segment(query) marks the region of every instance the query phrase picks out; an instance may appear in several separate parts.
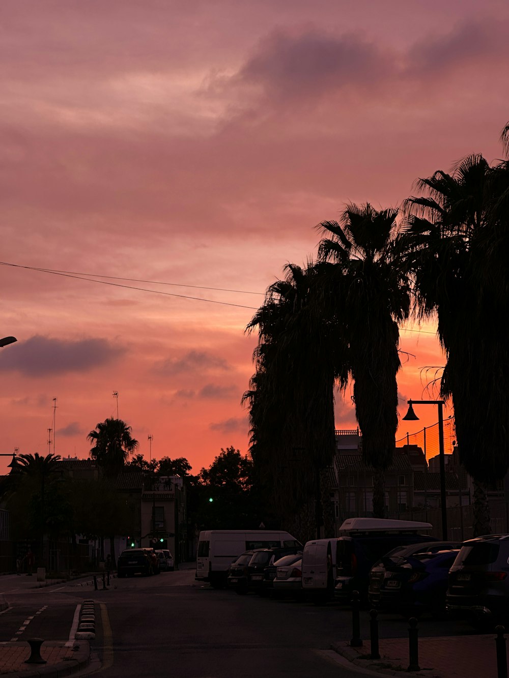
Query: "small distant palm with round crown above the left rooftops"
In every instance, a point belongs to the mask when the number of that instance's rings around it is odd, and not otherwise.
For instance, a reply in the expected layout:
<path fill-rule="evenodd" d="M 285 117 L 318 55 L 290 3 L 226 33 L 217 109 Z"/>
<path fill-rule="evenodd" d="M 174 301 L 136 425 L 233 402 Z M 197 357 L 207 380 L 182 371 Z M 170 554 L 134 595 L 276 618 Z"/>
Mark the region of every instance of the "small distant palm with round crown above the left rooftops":
<path fill-rule="evenodd" d="M 121 419 L 106 419 L 90 431 L 87 439 L 94 442 L 90 457 L 102 466 L 109 477 L 124 468 L 130 454 L 138 449 L 138 441 L 131 437 L 131 426 Z"/>

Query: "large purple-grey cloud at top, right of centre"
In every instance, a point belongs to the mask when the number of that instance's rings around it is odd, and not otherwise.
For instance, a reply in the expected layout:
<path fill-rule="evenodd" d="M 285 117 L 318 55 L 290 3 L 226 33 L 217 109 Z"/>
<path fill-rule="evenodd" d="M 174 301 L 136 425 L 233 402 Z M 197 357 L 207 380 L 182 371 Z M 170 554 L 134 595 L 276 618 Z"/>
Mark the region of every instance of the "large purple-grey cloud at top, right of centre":
<path fill-rule="evenodd" d="M 259 85 L 271 101 L 295 102 L 330 96 L 345 86 L 371 86 L 393 67 L 385 52 L 359 35 L 278 28 L 259 43 L 231 83 Z"/>

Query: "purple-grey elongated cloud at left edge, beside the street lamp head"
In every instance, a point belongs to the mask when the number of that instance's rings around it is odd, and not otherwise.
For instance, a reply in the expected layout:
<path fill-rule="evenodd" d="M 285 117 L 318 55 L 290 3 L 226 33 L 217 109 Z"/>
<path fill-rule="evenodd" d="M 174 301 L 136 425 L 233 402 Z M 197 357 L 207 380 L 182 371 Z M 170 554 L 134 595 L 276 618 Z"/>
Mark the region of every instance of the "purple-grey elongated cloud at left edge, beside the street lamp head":
<path fill-rule="evenodd" d="M 88 372 L 113 362 L 125 348 L 105 339 L 64 340 L 33 336 L 1 355 L 0 371 L 40 377 L 67 372 Z"/>

